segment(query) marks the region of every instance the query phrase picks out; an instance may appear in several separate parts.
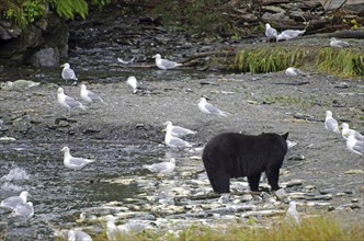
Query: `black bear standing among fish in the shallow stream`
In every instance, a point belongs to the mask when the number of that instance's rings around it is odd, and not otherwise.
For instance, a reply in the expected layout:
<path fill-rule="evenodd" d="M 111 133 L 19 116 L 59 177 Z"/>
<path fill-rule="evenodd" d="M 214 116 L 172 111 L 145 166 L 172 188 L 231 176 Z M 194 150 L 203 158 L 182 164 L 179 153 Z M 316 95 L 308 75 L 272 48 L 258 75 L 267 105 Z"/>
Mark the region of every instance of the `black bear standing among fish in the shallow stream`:
<path fill-rule="evenodd" d="M 278 190 L 280 169 L 288 150 L 287 137 L 288 133 L 215 136 L 202 156 L 214 192 L 229 193 L 230 179 L 240 176 L 248 176 L 250 190 L 257 192 L 264 171 L 272 190 Z"/>

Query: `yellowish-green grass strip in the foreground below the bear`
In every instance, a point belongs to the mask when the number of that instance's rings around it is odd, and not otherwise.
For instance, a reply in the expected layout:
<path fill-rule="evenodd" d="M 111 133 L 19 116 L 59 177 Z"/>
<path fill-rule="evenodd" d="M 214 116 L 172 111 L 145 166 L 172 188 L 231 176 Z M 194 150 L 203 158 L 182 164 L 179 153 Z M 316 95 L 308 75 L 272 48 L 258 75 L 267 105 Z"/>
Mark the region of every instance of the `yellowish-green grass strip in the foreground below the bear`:
<path fill-rule="evenodd" d="M 193 225 L 179 236 L 166 232 L 132 234 L 120 240 L 166 240 L 166 241 L 221 241 L 221 240 L 266 240 L 266 241 L 333 241 L 333 240 L 363 240 L 364 227 L 356 223 L 348 227 L 332 217 L 310 217 L 302 219 L 300 226 L 292 226 L 285 221 L 275 221 L 268 228 L 252 227 L 237 223 L 226 227 L 206 227 Z M 94 240 L 106 241 L 105 233 L 94 237 Z"/>

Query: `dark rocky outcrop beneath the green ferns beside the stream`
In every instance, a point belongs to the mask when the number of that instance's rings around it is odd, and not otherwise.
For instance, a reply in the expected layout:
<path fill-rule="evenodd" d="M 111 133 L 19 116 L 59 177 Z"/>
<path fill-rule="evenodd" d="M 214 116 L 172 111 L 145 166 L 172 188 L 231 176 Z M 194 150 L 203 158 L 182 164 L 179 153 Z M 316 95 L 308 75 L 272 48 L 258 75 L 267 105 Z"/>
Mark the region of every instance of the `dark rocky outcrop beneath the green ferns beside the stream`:
<path fill-rule="evenodd" d="M 0 22 L 0 65 L 53 67 L 67 58 L 68 26 L 53 13 L 22 31 L 10 22 Z"/>

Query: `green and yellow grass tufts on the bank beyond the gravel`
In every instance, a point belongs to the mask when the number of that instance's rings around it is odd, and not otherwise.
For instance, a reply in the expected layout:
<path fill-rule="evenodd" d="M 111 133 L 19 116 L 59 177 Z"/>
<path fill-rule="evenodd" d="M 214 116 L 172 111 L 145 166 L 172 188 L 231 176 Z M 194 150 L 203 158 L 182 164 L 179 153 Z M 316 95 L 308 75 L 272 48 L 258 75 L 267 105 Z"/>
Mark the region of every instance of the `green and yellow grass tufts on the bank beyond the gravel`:
<path fill-rule="evenodd" d="M 332 47 L 260 46 L 241 49 L 235 59 L 224 59 L 228 69 L 241 72 L 264 73 L 282 71 L 288 67 L 318 69 L 339 77 L 364 77 L 362 49 Z"/>

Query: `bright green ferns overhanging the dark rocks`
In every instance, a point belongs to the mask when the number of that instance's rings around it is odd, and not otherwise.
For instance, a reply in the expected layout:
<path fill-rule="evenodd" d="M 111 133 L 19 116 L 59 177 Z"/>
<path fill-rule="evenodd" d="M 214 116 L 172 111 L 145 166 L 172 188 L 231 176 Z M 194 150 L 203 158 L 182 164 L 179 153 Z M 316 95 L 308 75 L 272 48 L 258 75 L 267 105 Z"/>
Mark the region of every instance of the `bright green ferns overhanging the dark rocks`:
<path fill-rule="evenodd" d="M 14 21 L 18 26 L 25 28 L 44 16 L 48 10 L 64 18 L 75 19 L 78 14 L 86 19 L 90 4 L 102 8 L 111 2 L 112 0 L 3 0 L 0 19 Z"/>

